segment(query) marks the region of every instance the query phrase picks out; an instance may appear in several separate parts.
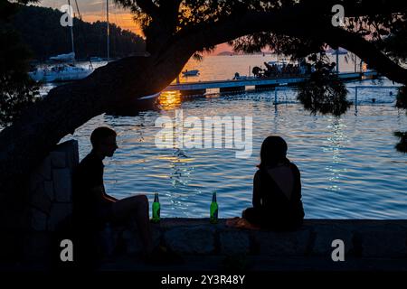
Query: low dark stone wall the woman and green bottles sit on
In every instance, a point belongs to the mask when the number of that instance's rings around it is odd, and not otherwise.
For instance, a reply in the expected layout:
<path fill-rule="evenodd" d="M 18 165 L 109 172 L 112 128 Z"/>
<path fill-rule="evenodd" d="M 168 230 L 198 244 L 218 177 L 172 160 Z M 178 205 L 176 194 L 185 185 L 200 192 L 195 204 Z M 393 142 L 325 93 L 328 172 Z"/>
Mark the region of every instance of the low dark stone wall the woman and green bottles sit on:
<path fill-rule="evenodd" d="M 216 225 L 208 219 L 163 219 L 153 233 L 156 244 L 183 255 L 330 257 L 332 241 L 341 239 L 345 256 L 403 258 L 407 264 L 407 220 L 306 219 L 297 231 L 273 232 L 230 228 L 225 219 Z M 141 247 L 133 234 L 125 237 L 128 252 Z"/>

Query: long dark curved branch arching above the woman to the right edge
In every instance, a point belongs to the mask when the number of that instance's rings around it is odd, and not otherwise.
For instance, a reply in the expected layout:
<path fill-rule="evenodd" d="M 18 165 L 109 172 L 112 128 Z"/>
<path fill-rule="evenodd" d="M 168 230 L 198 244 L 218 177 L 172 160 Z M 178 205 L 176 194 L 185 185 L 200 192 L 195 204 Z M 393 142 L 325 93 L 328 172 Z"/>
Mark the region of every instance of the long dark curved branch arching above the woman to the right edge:
<path fill-rule="evenodd" d="M 284 23 L 281 25 L 281 23 Z M 327 23 L 326 19 L 311 18 L 301 9 L 288 12 L 248 13 L 238 19 L 194 27 L 188 32 L 195 48 L 229 42 L 242 35 L 260 32 L 308 38 L 341 46 L 354 52 L 388 79 L 407 83 L 407 70 L 383 54 L 374 43 L 366 41 L 357 33 L 346 32 Z M 183 35 L 185 37 L 185 35 Z"/>

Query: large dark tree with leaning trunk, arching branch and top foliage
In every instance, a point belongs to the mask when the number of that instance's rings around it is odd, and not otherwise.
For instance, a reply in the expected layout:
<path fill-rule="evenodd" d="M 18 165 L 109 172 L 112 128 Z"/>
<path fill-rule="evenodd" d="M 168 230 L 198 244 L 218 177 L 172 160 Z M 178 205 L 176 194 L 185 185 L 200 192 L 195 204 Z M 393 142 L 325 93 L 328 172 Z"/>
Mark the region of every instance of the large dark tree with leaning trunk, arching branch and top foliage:
<path fill-rule="evenodd" d="M 166 88 L 194 53 L 222 42 L 232 42 L 237 51 L 259 51 L 269 45 L 294 57 L 320 51 L 326 44 L 340 46 L 387 78 L 407 84 L 407 70 L 399 63 L 405 54 L 394 44 L 405 43 L 405 1 L 116 2 L 135 14 L 149 55 L 110 62 L 86 79 L 52 89 L 6 127 L 0 134 L 0 203 L 22 195 L 28 173 L 63 136 L 107 111 L 134 113 L 146 102 L 139 98 Z M 331 23 L 331 8 L 337 4 L 345 7 L 345 27 Z M 13 219 L 21 216 L 20 211 L 2 210 L 5 215 L 0 218 Z"/>

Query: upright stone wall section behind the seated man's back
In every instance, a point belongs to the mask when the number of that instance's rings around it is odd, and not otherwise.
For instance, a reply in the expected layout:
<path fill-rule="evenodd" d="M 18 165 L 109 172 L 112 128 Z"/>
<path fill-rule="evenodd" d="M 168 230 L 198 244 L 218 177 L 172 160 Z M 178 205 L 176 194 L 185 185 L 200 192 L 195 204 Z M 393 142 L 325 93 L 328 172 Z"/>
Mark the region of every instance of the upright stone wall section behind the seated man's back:
<path fill-rule="evenodd" d="M 71 175 L 78 163 L 78 142 L 70 140 L 58 144 L 32 172 L 27 256 L 49 255 L 52 232 L 71 215 Z"/>

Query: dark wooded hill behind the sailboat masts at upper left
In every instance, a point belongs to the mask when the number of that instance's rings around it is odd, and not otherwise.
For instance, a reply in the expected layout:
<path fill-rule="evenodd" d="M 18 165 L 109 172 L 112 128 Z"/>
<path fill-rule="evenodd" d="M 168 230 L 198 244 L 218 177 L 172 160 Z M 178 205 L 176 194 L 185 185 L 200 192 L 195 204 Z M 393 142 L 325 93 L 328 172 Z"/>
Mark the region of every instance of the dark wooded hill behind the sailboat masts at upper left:
<path fill-rule="evenodd" d="M 14 28 L 23 42 L 33 51 L 36 60 L 71 52 L 70 27 L 62 27 L 62 12 L 52 8 L 21 6 L 14 16 Z M 106 22 L 86 23 L 73 20 L 75 53 L 78 60 L 92 56 L 106 57 Z M 145 51 L 144 40 L 135 33 L 110 23 L 110 57 L 120 58 Z"/>

